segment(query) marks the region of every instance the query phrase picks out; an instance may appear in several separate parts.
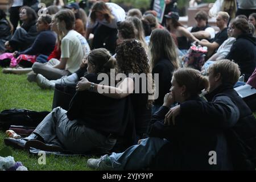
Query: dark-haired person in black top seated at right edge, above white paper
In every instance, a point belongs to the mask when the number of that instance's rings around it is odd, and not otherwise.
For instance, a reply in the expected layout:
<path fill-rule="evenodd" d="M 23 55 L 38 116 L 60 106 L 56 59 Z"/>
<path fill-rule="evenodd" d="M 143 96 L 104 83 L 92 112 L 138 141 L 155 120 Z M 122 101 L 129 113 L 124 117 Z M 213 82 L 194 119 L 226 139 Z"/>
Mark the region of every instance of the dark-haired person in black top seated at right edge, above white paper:
<path fill-rule="evenodd" d="M 245 75 L 245 81 L 253 74 L 256 67 L 256 38 L 250 34 L 249 23 L 245 19 L 237 19 L 232 24 L 232 36 L 236 42 L 230 48 L 226 59 L 234 60 Z"/>

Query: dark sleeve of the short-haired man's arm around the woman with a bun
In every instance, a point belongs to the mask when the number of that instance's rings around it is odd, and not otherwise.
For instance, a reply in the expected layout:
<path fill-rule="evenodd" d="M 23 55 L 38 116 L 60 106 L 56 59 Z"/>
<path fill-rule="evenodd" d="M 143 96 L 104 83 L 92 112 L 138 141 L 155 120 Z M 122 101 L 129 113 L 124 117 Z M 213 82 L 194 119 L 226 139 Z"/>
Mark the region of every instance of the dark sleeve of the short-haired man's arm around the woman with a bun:
<path fill-rule="evenodd" d="M 183 102 L 180 114 L 193 118 L 194 122 L 204 121 L 200 125 L 217 128 L 232 127 L 240 117 L 238 107 L 227 96 L 218 96 L 213 102 Z"/>

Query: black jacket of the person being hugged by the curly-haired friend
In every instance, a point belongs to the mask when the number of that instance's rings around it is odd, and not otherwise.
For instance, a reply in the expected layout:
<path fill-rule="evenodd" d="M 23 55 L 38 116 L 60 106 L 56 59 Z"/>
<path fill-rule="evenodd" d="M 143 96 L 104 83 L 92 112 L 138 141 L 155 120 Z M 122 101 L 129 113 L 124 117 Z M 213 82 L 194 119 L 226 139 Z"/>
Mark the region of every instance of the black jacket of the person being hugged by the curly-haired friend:
<path fill-rule="evenodd" d="M 85 77 L 91 82 L 100 82 L 95 74 Z M 129 97 L 117 100 L 87 90 L 76 92 L 69 104 L 67 117 L 70 120 L 77 119 L 82 125 L 106 136 L 125 135 L 130 144 L 135 139 L 134 113 Z"/>

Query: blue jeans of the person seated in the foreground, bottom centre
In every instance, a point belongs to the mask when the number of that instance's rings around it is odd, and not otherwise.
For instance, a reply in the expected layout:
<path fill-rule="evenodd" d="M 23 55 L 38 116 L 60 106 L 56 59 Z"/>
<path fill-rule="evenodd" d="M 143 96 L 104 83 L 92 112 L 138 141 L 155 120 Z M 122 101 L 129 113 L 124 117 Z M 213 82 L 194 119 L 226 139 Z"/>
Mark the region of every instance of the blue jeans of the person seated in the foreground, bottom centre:
<path fill-rule="evenodd" d="M 150 137 L 140 144 L 127 148 L 122 153 L 113 152 L 109 158 L 114 170 L 139 170 L 147 168 L 160 148 L 168 143 L 166 139 Z"/>

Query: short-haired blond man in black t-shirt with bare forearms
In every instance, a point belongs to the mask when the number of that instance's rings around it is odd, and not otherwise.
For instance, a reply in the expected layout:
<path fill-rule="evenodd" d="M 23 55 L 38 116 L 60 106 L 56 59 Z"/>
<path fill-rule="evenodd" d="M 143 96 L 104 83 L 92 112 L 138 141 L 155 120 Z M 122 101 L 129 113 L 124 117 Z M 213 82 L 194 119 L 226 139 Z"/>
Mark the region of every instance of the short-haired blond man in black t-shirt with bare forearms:
<path fill-rule="evenodd" d="M 205 39 L 199 42 L 201 46 L 206 46 L 208 48 L 208 56 L 212 56 L 213 53 L 217 51 L 218 47 L 220 47 L 221 44 L 226 39 L 228 39 L 228 21 L 229 14 L 224 11 L 220 11 L 216 18 L 216 25 L 218 28 L 220 28 L 220 32 L 215 35 L 214 39 L 211 42 Z"/>

